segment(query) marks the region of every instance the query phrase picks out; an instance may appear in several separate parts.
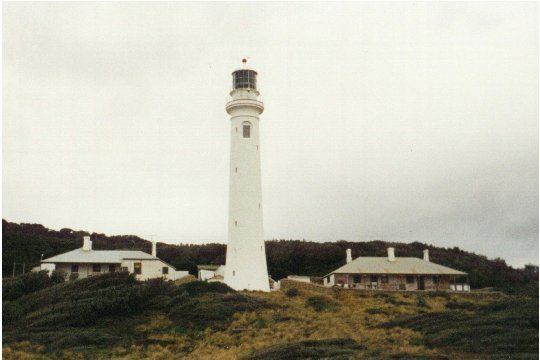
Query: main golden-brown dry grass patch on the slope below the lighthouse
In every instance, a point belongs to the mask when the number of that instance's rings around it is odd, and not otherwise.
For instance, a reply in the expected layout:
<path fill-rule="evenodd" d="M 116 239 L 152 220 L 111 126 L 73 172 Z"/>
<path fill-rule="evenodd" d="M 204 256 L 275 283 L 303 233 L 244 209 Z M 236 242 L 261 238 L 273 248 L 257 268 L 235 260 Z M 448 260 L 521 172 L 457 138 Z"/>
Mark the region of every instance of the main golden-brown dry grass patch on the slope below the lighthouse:
<path fill-rule="evenodd" d="M 333 300 L 340 306 L 333 311 L 316 311 L 306 306 L 306 299 L 317 296 L 315 292 L 302 290 L 299 296 L 288 297 L 282 292 L 270 294 L 249 293 L 278 307 L 260 312 L 236 314 L 225 331 L 205 331 L 196 339 L 182 335 L 168 336 L 169 344 L 142 346 L 120 356 L 122 359 L 238 359 L 253 350 L 276 344 L 299 340 L 350 338 L 366 346 L 365 354 L 409 354 L 411 356 L 436 357 L 435 350 L 422 345 L 422 336 L 416 331 L 401 328 L 377 327 L 402 315 L 414 315 L 425 311 L 444 309 L 444 298 L 426 298 L 429 308 L 417 305 L 415 297 L 391 294 L 384 297 L 359 297 L 354 292 L 337 293 Z M 395 303 L 400 305 L 395 305 Z M 368 309 L 381 309 L 372 314 Z M 154 322 L 158 320 L 153 320 Z M 160 322 L 162 320 L 159 320 Z M 151 327 L 151 325 L 150 325 Z M 189 353 L 185 351 L 190 349 Z"/>

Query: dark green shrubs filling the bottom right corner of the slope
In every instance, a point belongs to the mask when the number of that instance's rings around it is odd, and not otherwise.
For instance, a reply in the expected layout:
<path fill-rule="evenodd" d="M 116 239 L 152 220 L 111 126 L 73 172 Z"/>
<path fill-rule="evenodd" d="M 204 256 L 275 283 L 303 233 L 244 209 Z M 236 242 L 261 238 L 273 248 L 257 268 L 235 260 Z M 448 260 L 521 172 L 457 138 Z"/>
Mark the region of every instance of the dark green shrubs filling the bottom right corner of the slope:
<path fill-rule="evenodd" d="M 425 313 L 388 322 L 422 332 L 428 346 L 498 358 L 537 358 L 538 298 L 511 298 L 478 307 Z"/>

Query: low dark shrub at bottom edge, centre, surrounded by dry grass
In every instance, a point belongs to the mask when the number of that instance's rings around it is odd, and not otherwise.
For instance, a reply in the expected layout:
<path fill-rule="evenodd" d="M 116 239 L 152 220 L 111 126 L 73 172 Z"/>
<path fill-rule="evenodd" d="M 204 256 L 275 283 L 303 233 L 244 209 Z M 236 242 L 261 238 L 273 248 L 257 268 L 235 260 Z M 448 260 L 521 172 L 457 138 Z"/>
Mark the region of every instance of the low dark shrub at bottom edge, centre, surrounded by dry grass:
<path fill-rule="evenodd" d="M 251 352 L 245 359 L 350 359 L 365 350 L 352 339 L 306 340 Z"/>

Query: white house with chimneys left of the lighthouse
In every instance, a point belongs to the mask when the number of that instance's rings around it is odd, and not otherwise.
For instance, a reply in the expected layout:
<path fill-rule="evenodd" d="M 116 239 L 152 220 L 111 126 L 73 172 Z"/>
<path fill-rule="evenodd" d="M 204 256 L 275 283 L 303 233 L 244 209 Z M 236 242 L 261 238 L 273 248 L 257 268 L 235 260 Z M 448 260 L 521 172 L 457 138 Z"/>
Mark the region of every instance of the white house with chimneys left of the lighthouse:
<path fill-rule="evenodd" d="M 152 243 L 152 254 L 139 250 L 93 250 L 90 236 L 84 237 L 83 247 L 41 260 L 40 270 L 60 270 L 76 274 L 78 278 L 127 271 L 137 280 L 165 278 L 177 280 L 189 275 L 188 271 L 177 271 L 172 265 L 156 256 L 156 243 Z"/>

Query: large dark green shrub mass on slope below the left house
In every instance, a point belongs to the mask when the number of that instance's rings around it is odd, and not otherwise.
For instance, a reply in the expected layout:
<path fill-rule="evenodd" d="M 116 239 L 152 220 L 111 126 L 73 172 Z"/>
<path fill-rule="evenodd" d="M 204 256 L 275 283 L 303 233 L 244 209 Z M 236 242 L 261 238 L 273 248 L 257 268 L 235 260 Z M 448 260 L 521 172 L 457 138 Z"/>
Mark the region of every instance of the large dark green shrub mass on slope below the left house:
<path fill-rule="evenodd" d="M 107 273 L 4 301 L 4 341 L 27 340 L 49 349 L 130 344 L 144 341 L 133 329 L 149 313 L 170 315 L 177 328 L 194 332 L 224 328 L 236 312 L 266 307 L 266 302 L 219 283 L 177 286 L 162 279 L 138 282 L 125 272 Z"/>

